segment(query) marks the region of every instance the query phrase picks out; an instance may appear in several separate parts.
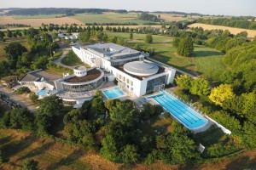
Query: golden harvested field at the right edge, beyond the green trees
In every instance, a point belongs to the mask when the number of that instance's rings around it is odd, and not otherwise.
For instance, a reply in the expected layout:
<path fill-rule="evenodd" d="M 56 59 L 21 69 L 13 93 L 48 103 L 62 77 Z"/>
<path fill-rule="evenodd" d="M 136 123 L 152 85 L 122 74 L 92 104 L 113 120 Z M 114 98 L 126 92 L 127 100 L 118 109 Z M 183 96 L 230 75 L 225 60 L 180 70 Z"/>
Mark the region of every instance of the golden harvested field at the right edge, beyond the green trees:
<path fill-rule="evenodd" d="M 201 24 L 201 23 L 195 23 L 195 24 L 191 24 L 189 25 L 189 28 L 192 27 L 202 27 L 204 30 L 228 30 L 230 31 L 232 34 L 238 34 L 241 31 L 247 31 L 249 38 L 253 38 L 256 36 L 256 30 L 247 30 L 247 29 L 242 29 L 242 28 L 233 28 L 233 27 L 229 27 L 229 26 L 214 26 L 214 25 L 207 25 L 207 24 Z"/>

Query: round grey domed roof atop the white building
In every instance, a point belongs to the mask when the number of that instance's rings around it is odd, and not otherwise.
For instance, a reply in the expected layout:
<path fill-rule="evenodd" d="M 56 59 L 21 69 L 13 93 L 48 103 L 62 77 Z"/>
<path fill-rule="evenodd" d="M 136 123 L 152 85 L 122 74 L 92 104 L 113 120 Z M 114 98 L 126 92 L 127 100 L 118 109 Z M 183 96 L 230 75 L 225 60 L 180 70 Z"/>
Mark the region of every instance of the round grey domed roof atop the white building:
<path fill-rule="evenodd" d="M 124 70 L 136 76 L 150 76 L 157 73 L 159 67 L 154 63 L 143 61 L 133 61 L 124 65 Z"/>

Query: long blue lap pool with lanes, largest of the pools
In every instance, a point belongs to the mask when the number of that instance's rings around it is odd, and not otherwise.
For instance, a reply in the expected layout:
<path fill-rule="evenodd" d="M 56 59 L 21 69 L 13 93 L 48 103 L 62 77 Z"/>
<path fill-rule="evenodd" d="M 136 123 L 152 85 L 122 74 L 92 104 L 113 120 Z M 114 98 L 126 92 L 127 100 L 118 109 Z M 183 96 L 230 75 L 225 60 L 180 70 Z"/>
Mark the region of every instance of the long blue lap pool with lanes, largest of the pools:
<path fill-rule="evenodd" d="M 208 122 L 205 117 L 201 116 L 199 113 L 196 113 L 190 109 L 188 105 L 184 105 L 183 102 L 176 99 L 172 95 L 167 94 L 166 92 L 150 96 L 147 99 L 154 99 L 157 103 L 169 111 L 171 115 L 177 119 L 177 121 L 183 123 L 185 127 L 188 127 L 191 130 L 202 127 Z"/>

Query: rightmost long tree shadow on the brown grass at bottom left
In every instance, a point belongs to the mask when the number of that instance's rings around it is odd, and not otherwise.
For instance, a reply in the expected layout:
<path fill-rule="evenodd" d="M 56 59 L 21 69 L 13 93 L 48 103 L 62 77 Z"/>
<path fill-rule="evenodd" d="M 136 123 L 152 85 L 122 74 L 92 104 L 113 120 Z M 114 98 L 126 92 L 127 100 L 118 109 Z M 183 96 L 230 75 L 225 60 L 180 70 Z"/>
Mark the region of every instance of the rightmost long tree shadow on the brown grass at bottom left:
<path fill-rule="evenodd" d="M 54 165 L 51 165 L 47 167 L 47 169 L 58 169 L 61 166 L 68 166 L 73 163 L 73 161 L 78 160 L 81 156 L 84 156 L 83 150 L 74 150 L 72 154 L 69 156 L 62 158 L 61 161 L 55 163 Z"/>

